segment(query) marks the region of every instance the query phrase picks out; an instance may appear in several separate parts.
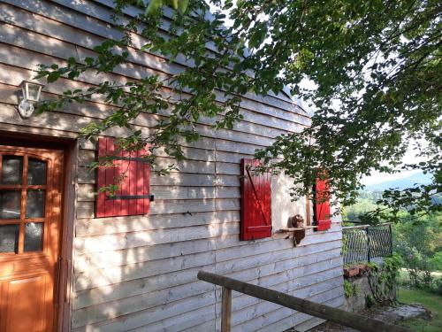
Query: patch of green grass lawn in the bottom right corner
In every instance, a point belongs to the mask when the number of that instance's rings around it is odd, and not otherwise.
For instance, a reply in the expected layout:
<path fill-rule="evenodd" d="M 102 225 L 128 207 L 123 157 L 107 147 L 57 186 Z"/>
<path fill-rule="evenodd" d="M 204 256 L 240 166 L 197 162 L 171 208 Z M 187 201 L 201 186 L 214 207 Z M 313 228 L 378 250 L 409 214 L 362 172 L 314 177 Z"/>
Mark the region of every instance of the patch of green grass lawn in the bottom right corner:
<path fill-rule="evenodd" d="M 403 326 L 416 332 L 440 332 L 442 331 L 442 297 L 429 293 L 425 290 L 398 290 L 398 300 L 401 303 L 420 303 L 431 310 L 431 320 L 415 319 L 407 320 Z"/>

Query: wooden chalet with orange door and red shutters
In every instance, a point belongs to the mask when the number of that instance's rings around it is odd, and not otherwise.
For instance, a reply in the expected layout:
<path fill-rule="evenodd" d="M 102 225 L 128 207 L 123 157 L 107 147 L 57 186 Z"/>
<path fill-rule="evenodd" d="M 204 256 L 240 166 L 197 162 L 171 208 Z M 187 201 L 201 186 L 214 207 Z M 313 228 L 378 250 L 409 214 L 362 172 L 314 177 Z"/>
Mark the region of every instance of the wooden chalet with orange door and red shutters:
<path fill-rule="evenodd" d="M 111 0 L 0 0 L 0 331 L 219 331 L 221 289 L 199 281 L 200 270 L 343 305 L 342 233 L 339 220 L 328 220 L 328 203 L 292 202 L 289 179 L 248 167 L 254 151 L 275 136 L 309 126 L 309 113 L 284 91 L 242 97 L 244 120 L 232 130 L 214 131 L 202 121 L 202 138 L 183 143 L 187 160 L 166 176 L 124 153 L 115 167 L 89 171 L 121 135 L 116 129 L 96 144 L 79 140 L 81 127 L 107 114 L 105 104 L 19 114 L 20 84 L 38 64 L 80 62 L 95 45 L 118 37 L 111 6 Z M 131 66 L 60 79 L 42 89 L 41 99 L 187 66 L 130 52 Z M 155 121 L 143 114 L 135 123 L 148 130 Z M 159 158 L 160 165 L 171 162 Z M 123 166 L 129 172 L 117 196 L 97 195 Z M 287 230 L 296 214 L 305 226 L 300 243 Z M 318 321 L 232 293 L 234 331 L 305 330 Z"/>

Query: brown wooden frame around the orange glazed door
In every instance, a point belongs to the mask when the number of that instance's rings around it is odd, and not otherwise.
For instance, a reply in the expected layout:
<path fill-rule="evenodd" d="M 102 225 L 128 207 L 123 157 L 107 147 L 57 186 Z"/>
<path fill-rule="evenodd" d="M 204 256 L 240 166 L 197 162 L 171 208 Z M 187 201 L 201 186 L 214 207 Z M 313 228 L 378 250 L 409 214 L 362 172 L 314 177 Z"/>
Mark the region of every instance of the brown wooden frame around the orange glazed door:
<path fill-rule="evenodd" d="M 15 129 L 15 130 L 14 130 Z M 20 130 L 21 131 L 21 130 Z M 58 133 L 57 133 L 58 134 Z M 76 208 L 78 140 L 59 135 L 34 135 L 17 131 L 0 131 L 1 145 L 41 148 L 64 151 L 63 183 L 61 186 L 61 216 L 59 234 L 59 263 L 57 265 L 57 303 L 55 303 L 54 320 L 56 330 L 65 332 L 71 330 L 72 313 L 72 254 L 73 235 Z"/>

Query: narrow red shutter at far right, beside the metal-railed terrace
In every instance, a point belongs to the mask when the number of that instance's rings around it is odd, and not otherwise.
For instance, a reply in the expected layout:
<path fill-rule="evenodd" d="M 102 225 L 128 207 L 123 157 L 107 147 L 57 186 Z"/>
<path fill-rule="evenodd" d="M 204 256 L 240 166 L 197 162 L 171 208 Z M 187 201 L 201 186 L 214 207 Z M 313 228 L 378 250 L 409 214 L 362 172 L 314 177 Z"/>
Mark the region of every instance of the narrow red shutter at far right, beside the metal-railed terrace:
<path fill-rule="evenodd" d="M 331 228 L 330 190 L 326 179 L 316 179 L 315 185 L 315 222 L 316 230 Z"/>

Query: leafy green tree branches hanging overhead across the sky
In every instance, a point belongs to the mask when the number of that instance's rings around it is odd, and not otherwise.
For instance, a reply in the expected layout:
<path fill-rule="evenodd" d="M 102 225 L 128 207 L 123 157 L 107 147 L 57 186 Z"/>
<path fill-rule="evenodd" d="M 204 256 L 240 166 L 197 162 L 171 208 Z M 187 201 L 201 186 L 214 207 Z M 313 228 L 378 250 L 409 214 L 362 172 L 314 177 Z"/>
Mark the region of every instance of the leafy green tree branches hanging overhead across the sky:
<path fill-rule="evenodd" d="M 442 178 L 439 1 L 115 4 L 118 40 L 95 46 L 93 57 L 41 66 L 38 74 L 49 82 L 81 80 L 91 73 L 103 80 L 65 91 L 40 104 L 41 112 L 97 101 L 107 105 L 106 111 L 103 120 L 83 128 L 86 138 L 120 127 L 123 140 L 149 143 L 152 156 L 163 149 L 185 158 L 182 145 L 199 139 L 202 122 L 232 128 L 242 119 L 240 96 L 278 93 L 286 85 L 315 110 L 311 127 L 279 135 L 256 158 L 301 184 L 293 187 L 293 197 L 308 192 L 318 169 L 327 170 L 333 194 L 346 202 L 361 188 L 363 175 L 405 167 L 434 174 L 433 183 L 392 190 L 385 203 L 413 206 L 416 213 L 441 208 L 431 205 Z M 134 70 L 146 53 L 155 55 L 167 73 Z M 175 62 L 187 64 L 186 69 L 175 70 Z M 121 68 L 133 70 L 138 79 L 114 81 L 111 73 Z M 149 129 L 135 120 L 149 123 Z M 411 142 L 418 144 L 420 159 L 400 166 Z"/>

